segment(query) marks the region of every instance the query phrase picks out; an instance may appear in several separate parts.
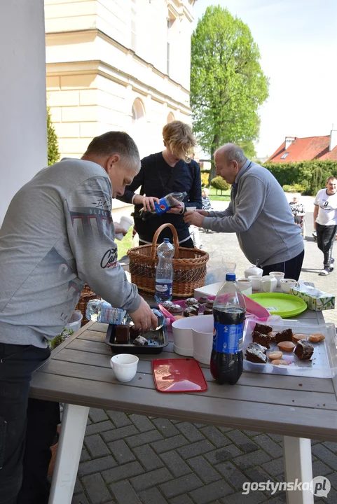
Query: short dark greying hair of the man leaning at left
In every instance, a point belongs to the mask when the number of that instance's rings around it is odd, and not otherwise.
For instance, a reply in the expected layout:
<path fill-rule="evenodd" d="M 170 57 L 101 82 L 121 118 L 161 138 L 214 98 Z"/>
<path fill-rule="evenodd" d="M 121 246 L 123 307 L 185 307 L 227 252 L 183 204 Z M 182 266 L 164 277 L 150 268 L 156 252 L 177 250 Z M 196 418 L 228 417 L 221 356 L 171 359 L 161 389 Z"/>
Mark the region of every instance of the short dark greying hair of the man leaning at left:
<path fill-rule="evenodd" d="M 106 132 L 90 141 L 85 156 L 102 158 L 118 154 L 130 168 L 140 169 L 139 151 L 135 141 L 125 132 Z"/>

